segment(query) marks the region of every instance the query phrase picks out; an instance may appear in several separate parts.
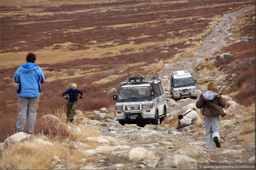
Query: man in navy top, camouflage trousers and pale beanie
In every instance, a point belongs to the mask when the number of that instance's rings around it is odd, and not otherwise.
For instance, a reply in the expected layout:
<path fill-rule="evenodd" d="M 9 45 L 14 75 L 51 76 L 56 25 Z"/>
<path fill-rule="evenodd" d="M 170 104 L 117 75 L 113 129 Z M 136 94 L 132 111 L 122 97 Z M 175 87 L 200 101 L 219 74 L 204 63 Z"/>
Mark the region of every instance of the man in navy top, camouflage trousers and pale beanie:
<path fill-rule="evenodd" d="M 79 98 L 83 98 L 83 92 L 81 90 L 77 89 L 77 85 L 76 84 L 72 84 L 72 88 L 68 89 L 67 91 L 65 91 L 64 93 L 62 93 L 62 96 L 64 96 L 66 98 L 66 100 L 69 100 L 67 103 L 67 121 L 72 122 L 74 119 L 74 115 L 75 115 L 75 111 L 78 105 L 78 94 L 81 94 L 81 96 Z M 69 94 L 69 98 L 66 96 L 66 94 Z"/>

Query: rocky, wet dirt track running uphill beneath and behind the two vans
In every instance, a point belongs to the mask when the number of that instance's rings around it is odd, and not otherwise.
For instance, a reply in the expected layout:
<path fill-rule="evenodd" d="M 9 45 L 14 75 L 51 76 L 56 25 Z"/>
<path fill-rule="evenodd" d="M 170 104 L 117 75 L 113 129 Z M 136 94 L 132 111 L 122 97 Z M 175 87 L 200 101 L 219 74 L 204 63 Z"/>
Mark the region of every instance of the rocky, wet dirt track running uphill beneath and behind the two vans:
<path fill-rule="evenodd" d="M 242 12 L 235 12 L 235 14 L 238 15 Z M 170 98 L 168 90 L 169 74 L 174 70 L 187 69 L 192 73 L 194 79 L 197 79 L 199 82 L 203 80 L 201 73 L 195 71 L 196 64 L 207 57 L 200 55 L 200 52 L 203 54 L 208 49 L 208 52 L 210 51 L 208 55 L 212 55 L 211 52 L 214 52 L 214 50 L 209 50 L 209 45 L 212 39 L 224 39 L 227 36 L 219 34 L 219 31 L 226 26 L 219 25 L 215 29 L 216 32 L 213 32 L 206 38 L 206 43 L 198 51 L 199 55 L 195 55 L 192 58 L 183 57 L 177 63 L 165 65 L 159 72 L 162 76 L 161 79 L 164 83 L 167 97 Z M 223 43 L 220 43 L 219 47 L 225 45 L 225 42 Z M 205 70 L 204 76 L 216 79 L 223 76 L 223 74 L 222 72 Z M 200 84 L 202 83 L 197 84 L 198 93 L 200 93 L 200 90 L 204 90 L 203 88 L 201 89 Z M 226 101 L 232 100 L 227 96 L 223 97 L 226 98 Z M 197 99 L 190 98 L 177 102 L 168 99 L 167 117 L 173 118 L 173 116 L 183 113 L 187 108 L 193 106 L 193 103 L 195 104 L 196 101 Z M 198 113 L 200 114 L 199 110 L 198 108 Z M 102 131 L 103 136 L 112 137 L 111 140 L 116 145 L 104 146 L 105 144 L 102 144 L 103 146 L 95 150 L 86 150 L 85 153 L 93 158 L 89 162 L 83 163 L 84 168 L 83 164 L 81 164 L 83 169 L 92 167 L 96 169 L 197 169 L 197 163 L 199 162 L 255 161 L 255 144 L 248 144 L 243 147 L 235 139 L 236 132 L 240 130 L 240 125 L 243 123 L 239 119 L 221 121 L 220 125 L 223 124 L 220 127 L 221 147 L 215 147 L 213 142 L 213 150 L 205 148 L 204 127 L 188 127 L 176 130 L 175 127 L 169 127 L 165 124 L 139 127 L 135 124 L 122 126 L 115 119 L 106 119 L 101 122 L 95 122 L 94 120 L 93 123 L 87 118 L 82 118 L 81 120 L 90 124 L 89 127 Z M 186 160 L 186 164 L 183 163 L 184 160 Z"/>

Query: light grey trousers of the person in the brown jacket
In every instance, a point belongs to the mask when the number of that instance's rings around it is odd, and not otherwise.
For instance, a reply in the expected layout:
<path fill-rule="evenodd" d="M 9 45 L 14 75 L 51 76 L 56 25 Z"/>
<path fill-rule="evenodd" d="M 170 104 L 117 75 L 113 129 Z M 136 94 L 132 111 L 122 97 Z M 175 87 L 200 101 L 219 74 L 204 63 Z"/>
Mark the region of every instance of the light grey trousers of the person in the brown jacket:
<path fill-rule="evenodd" d="M 219 116 L 204 116 L 205 121 L 205 142 L 206 149 L 212 150 L 212 140 L 217 137 L 220 140 L 220 119 Z"/>

